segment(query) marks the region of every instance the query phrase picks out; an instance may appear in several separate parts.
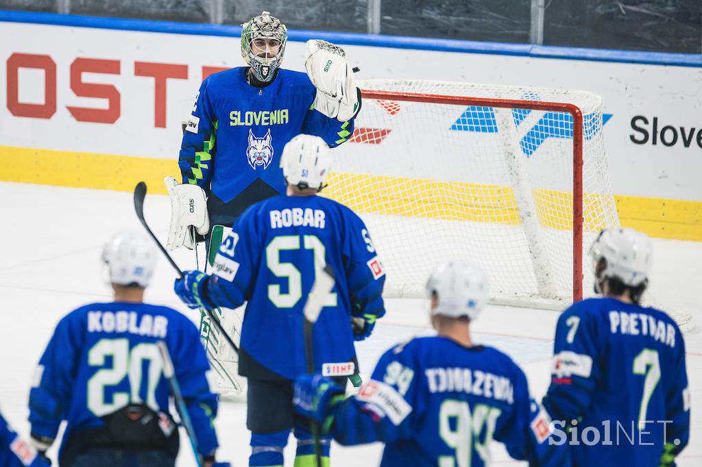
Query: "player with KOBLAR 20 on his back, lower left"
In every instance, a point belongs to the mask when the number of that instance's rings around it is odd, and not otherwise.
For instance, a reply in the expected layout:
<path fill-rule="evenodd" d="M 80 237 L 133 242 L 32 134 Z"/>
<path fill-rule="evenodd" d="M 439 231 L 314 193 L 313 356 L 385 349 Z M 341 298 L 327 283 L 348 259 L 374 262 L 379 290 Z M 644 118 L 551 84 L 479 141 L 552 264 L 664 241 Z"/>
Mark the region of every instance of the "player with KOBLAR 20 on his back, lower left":
<path fill-rule="evenodd" d="M 168 414 L 168 381 L 157 347 L 164 341 L 204 465 L 218 446 L 217 398 L 197 327 L 182 313 L 145 304 L 155 264 L 150 240 L 119 234 L 102 252 L 114 301 L 81 306 L 60 320 L 29 393 L 31 440 L 51 446 L 62 420 L 61 466 L 173 466 L 178 427 Z"/>

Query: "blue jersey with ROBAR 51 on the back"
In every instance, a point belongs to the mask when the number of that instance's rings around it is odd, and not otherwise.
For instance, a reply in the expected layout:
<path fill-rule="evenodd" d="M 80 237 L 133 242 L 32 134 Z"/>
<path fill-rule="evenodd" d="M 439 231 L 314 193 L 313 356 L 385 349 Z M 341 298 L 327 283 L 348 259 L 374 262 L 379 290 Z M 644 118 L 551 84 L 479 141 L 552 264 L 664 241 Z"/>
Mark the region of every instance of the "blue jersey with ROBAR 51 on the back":
<path fill-rule="evenodd" d="M 250 376 L 249 357 L 284 379 L 306 372 L 303 307 L 324 264 L 335 271 L 336 285 L 314 325 L 315 367 L 347 376 L 357 370 L 352 316 L 372 321 L 385 313 L 385 275 L 363 221 L 319 196 L 274 196 L 237 219 L 206 291 L 217 306 L 248 301 L 240 374 Z"/>

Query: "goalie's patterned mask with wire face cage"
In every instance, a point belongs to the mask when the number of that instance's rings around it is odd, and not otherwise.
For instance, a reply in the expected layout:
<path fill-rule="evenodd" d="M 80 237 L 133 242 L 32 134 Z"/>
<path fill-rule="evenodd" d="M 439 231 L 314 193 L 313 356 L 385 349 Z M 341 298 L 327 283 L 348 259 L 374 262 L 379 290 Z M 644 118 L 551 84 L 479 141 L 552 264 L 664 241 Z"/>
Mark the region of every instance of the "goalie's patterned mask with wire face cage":
<path fill-rule="evenodd" d="M 244 28 L 241 29 L 241 56 L 251 67 L 258 81 L 263 83 L 272 81 L 283 61 L 288 29 L 267 11 L 241 26 Z M 258 42 L 265 46 L 257 46 Z M 273 50 L 271 42 L 279 44 L 277 50 Z M 266 53 L 268 50 L 271 53 Z"/>

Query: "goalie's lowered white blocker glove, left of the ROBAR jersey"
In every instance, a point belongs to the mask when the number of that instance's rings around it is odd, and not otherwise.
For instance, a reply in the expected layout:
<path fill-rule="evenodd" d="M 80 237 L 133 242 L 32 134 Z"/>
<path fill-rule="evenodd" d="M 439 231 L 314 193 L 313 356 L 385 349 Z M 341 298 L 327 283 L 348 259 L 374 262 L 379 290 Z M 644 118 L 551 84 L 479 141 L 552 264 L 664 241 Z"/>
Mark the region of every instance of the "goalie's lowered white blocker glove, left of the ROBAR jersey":
<path fill-rule="evenodd" d="M 185 246 L 195 248 L 192 229 L 206 235 L 210 230 L 205 191 L 192 184 L 179 184 L 173 177 L 164 178 L 166 189 L 171 196 L 171 224 L 168 227 L 166 250 L 173 251 Z"/>

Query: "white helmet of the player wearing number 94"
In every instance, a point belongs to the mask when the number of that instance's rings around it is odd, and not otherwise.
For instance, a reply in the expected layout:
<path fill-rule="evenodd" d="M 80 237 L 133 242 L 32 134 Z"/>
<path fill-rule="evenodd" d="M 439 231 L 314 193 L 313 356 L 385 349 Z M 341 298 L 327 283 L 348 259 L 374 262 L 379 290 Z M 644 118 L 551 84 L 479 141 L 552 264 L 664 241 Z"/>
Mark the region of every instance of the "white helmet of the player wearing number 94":
<path fill-rule="evenodd" d="M 427 292 L 437 295 L 434 315 L 471 320 L 487 303 L 488 284 L 485 273 L 477 266 L 461 260 L 445 262 L 432 273 L 427 282 Z"/>

